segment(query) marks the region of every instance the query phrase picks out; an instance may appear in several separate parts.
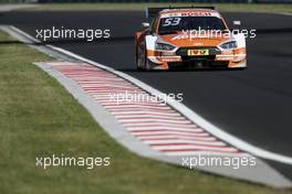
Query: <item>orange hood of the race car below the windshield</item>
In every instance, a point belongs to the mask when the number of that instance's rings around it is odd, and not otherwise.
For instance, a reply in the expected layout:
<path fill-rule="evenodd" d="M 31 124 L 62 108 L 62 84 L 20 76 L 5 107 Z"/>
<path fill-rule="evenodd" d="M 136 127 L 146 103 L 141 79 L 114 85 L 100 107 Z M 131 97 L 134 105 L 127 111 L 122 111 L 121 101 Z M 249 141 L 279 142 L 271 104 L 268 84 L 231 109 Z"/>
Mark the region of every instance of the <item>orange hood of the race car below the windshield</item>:
<path fill-rule="evenodd" d="M 227 42 L 230 37 L 218 35 L 215 33 L 198 34 L 191 36 L 189 33 L 176 33 L 159 35 L 158 41 L 170 43 L 178 47 L 191 47 L 191 46 L 218 46 L 219 44 Z"/>

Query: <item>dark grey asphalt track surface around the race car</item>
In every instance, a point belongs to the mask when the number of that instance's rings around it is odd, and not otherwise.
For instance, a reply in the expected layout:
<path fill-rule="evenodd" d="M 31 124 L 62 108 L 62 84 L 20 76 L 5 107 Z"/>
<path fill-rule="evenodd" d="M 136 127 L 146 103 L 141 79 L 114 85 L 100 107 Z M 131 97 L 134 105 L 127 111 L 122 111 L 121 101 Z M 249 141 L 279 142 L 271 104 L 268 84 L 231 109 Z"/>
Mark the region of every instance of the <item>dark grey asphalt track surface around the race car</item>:
<path fill-rule="evenodd" d="M 137 72 L 134 32 L 144 12 L 9 12 L 0 24 L 36 35 L 38 29 L 109 29 L 112 39 L 51 40 L 84 57 L 125 72 L 163 93 L 182 93 L 184 104 L 225 131 L 259 148 L 292 157 L 292 17 L 268 13 L 223 13 L 257 29 L 248 40 L 247 71 Z M 270 165 L 292 180 L 292 166 Z"/>

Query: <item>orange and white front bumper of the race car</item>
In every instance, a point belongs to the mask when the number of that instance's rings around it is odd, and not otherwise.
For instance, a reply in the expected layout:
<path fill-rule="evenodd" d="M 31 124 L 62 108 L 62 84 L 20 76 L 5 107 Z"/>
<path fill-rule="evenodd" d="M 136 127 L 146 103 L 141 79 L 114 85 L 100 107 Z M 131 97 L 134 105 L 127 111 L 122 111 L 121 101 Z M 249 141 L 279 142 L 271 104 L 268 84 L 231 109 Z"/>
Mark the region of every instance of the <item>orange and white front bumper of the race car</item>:
<path fill-rule="evenodd" d="M 200 48 L 200 47 L 199 47 Z M 196 50 L 199 50 L 196 47 Z M 204 47 L 206 50 L 206 47 Z M 153 69 L 170 68 L 242 68 L 247 67 L 246 47 L 221 51 L 207 47 L 209 55 L 189 56 L 190 47 L 178 48 L 175 52 L 148 51 L 147 61 Z"/>

